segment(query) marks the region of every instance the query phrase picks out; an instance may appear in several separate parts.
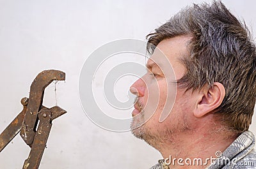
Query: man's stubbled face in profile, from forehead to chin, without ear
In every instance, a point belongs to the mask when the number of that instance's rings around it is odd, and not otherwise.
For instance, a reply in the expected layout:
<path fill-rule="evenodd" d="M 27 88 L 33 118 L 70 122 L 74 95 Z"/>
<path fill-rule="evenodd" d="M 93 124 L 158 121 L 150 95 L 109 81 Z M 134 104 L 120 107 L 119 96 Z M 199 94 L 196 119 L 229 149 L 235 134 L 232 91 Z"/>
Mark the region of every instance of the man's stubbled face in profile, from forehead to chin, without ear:
<path fill-rule="evenodd" d="M 185 89 L 176 89 L 175 81 L 186 72 L 179 59 L 188 57 L 190 39 L 177 36 L 161 41 L 148 59 L 148 72 L 131 85 L 131 92 L 138 96 L 132 112 L 132 133 L 150 144 L 166 133 L 170 135 L 187 128 L 185 113 L 191 111 L 193 98 Z M 159 122 L 163 116 L 167 118 Z"/>

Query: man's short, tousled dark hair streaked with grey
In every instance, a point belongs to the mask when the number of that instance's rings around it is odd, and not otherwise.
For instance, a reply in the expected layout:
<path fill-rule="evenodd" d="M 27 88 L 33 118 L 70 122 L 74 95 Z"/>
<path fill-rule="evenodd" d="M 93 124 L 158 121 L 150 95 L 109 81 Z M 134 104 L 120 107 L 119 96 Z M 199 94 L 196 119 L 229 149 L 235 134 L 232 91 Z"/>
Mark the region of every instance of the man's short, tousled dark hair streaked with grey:
<path fill-rule="evenodd" d="M 214 82 L 225 87 L 225 98 L 216 108 L 216 117 L 229 131 L 247 131 L 256 97 L 256 53 L 250 31 L 220 1 L 194 4 L 179 11 L 168 22 L 147 35 L 147 51 L 152 54 L 160 41 L 175 36 L 191 36 L 190 56 L 183 57 L 185 75 L 177 87 L 209 89 Z"/>

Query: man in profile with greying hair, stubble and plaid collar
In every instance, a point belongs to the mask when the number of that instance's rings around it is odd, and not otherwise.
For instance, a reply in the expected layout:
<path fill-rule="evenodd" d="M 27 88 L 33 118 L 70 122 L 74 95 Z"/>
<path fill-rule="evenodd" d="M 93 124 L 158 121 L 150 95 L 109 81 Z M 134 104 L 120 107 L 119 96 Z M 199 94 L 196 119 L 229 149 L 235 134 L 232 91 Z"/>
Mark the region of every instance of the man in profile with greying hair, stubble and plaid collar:
<path fill-rule="evenodd" d="M 256 168 L 256 52 L 246 26 L 221 2 L 194 4 L 148 34 L 147 50 L 148 73 L 130 89 L 132 115 L 143 115 L 131 128 L 161 152 L 152 168 Z"/>

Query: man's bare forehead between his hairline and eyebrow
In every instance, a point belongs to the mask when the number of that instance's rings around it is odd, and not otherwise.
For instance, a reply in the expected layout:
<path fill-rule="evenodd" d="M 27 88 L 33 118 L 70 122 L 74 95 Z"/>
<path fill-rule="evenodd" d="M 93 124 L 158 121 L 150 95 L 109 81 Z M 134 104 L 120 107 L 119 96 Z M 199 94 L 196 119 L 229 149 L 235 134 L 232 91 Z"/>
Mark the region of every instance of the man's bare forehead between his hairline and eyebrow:
<path fill-rule="evenodd" d="M 168 64 L 168 62 L 170 64 L 179 62 L 180 58 L 189 54 L 188 43 L 190 40 L 191 36 L 175 36 L 161 41 L 150 59 L 148 59 L 147 66 L 150 67 L 157 64 L 161 67 L 164 64 Z"/>

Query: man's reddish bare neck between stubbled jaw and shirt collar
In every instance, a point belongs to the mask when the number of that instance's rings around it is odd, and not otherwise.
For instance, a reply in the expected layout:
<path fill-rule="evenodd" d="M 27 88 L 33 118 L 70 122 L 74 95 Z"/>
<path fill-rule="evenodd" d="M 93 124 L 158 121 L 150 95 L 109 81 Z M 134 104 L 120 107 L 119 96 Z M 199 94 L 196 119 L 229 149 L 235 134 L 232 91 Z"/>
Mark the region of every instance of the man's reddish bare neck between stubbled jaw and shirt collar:
<path fill-rule="evenodd" d="M 211 165 L 211 161 L 207 160 L 208 158 L 218 158 L 216 152 L 225 151 L 235 139 L 235 136 L 228 136 L 218 132 L 210 133 L 201 128 L 194 132 L 187 131 L 177 135 L 173 133 L 172 144 L 170 142 L 161 143 L 157 149 L 161 152 L 163 158 L 166 159 L 166 162 L 170 163 L 172 168 L 205 168 Z M 179 165 L 179 158 L 183 159 L 183 161 L 180 159 L 180 164 L 184 163 L 184 166 Z M 189 163 L 188 158 L 191 159 L 192 166 L 186 165 L 186 162 Z M 203 165 L 193 165 L 195 158 L 202 159 Z"/>

